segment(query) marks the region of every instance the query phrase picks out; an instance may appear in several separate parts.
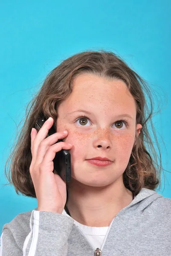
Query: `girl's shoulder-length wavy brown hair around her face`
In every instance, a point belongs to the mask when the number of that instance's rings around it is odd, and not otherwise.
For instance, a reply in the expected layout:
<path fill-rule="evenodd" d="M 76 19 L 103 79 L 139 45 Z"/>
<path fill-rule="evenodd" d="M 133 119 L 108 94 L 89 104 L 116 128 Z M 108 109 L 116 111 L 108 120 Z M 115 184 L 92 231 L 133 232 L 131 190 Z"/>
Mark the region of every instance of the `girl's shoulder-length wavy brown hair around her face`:
<path fill-rule="evenodd" d="M 38 90 L 26 107 L 26 117 L 23 127 L 17 137 L 12 153 L 5 164 L 5 175 L 17 192 L 28 197 L 36 198 L 35 189 L 29 172 L 32 161 L 30 133 L 35 122 L 43 113 L 46 119 L 51 116 L 54 119 L 54 128 L 58 116 L 58 106 L 72 93 L 72 81 L 75 76 L 81 73 L 91 73 L 107 79 L 119 79 L 125 82 L 131 95 L 136 101 L 136 124 L 142 125 L 141 133 L 137 137 L 132 148 L 130 160 L 125 172 L 123 182 L 127 189 L 137 195 L 142 188 L 151 190 L 161 186 L 160 176 L 162 164 L 159 143 L 152 122 L 153 97 L 152 88 L 148 86 L 145 79 L 142 79 L 133 71 L 125 61 L 113 52 L 99 50 L 88 50 L 72 55 L 62 61 L 46 76 L 43 85 Z M 148 97 L 150 108 L 145 99 Z M 159 164 L 157 152 L 151 139 L 148 127 L 151 125 L 159 150 Z M 9 172 L 6 167 L 9 164 Z M 9 185 L 6 184 L 6 185 Z M 68 199 L 68 190 L 67 190 Z M 67 202 L 65 205 L 67 209 Z"/>

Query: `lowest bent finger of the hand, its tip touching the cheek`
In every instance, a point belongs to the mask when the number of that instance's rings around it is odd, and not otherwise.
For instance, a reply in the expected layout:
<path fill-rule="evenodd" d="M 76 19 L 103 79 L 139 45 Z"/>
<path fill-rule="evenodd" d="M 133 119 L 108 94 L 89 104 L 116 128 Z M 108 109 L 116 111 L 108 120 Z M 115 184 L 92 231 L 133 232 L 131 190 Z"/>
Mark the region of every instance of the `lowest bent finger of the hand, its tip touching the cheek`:
<path fill-rule="evenodd" d="M 41 170 L 43 170 L 43 171 L 48 170 L 48 168 L 46 168 L 46 166 L 49 166 L 52 163 L 53 159 L 55 158 L 56 152 L 61 151 L 61 149 L 69 150 L 71 148 L 72 148 L 72 145 L 69 145 L 66 142 L 59 142 L 59 143 L 49 147 L 44 158 L 43 158 L 43 161 L 41 162 L 41 165 L 43 166 L 43 168 L 41 168 Z M 51 171 L 53 171 L 53 169 Z M 58 170 L 56 170 L 56 171 L 58 171 Z"/>

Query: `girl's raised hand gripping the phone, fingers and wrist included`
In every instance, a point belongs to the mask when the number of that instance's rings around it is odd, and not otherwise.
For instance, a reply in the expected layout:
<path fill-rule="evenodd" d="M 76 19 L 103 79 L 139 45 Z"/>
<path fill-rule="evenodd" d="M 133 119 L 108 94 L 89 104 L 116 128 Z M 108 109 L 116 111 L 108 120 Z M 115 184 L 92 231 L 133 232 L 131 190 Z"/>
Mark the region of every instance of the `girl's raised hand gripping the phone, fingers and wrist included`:
<path fill-rule="evenodd" d="M 68 132 L 57 132 L 46 138 L 52 125 L 53 119 L 49 118 L 38 132 L 32 128 L 32 162 L 29 171 L 38 201 L 38 211 L 61 214 L 67 201 L 66 182 L 57 173 L 53 173 L 53 159 L 56 152 L 71 149 L 72 145 L 66 142 L 56 143 L 66 137 Z"/>

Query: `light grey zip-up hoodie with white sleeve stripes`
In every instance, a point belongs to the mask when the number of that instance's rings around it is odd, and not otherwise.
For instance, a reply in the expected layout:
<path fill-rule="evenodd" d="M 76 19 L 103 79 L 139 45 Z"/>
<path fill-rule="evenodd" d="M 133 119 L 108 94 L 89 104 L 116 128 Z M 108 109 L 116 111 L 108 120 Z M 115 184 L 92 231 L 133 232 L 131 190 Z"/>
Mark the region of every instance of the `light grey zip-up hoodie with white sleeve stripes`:
<path fill-rule="evenodd" d="M 171 199 L 143 188 L 110 223 L 99 251 L 69 215 L 17 215 L 3 226 L 0 256 L 171 256 Z"/>

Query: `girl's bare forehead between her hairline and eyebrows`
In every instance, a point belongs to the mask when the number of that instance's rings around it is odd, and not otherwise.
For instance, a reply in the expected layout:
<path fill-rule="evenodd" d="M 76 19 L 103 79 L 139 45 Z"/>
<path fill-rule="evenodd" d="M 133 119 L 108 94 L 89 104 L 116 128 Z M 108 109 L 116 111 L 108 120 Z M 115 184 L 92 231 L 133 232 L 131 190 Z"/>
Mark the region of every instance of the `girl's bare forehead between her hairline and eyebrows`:
<path fill-rule="evenodd" d="M 124 81 L 108 80 L 92 74 L 78 75 L 73 81 L 70 96 L 61 103 L 61 107 L 77 110 L 79 108 L 99 109 L 99 111 L 130 111 L 136 112 L 133 96 Z"/>

